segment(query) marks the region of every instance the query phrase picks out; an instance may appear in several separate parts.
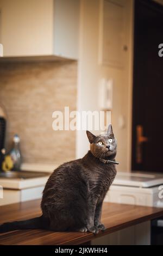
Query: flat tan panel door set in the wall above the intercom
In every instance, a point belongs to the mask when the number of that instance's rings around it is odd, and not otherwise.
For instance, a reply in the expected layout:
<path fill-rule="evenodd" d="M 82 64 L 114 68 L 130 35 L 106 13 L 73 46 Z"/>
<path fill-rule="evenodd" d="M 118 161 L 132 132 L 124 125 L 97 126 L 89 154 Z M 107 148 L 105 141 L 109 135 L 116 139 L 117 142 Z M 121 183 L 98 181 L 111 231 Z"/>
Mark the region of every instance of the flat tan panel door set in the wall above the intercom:
<path fill-rule="evenodd" d="M 99 62 L 123 68 L 127 51 L 126 0 L 101 0 Z"/>

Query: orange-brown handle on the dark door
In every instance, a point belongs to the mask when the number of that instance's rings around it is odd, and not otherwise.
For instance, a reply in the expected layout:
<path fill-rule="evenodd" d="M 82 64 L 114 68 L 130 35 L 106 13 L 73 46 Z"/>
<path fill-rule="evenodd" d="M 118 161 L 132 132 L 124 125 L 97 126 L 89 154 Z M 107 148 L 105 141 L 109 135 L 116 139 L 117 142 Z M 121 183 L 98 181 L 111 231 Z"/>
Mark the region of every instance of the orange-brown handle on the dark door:
<path fill-rule="evenodd" d="M 143 136 L 143 126 L 136 126 L 136 163 L 142 163 L 142 144 L 147 142 L 148 138 Z"/>

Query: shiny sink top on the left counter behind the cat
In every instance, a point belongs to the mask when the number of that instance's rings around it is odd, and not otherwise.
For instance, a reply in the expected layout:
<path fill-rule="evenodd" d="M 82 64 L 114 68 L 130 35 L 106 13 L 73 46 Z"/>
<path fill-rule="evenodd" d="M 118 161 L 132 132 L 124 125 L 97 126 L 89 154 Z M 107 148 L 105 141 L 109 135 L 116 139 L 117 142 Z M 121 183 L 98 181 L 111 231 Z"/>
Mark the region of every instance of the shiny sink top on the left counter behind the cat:
<path fill-rule="evenodd" d="M 51 173 L 46 172 L 30 172 L 28 170 L 12 170 L 8 172 L 1 172 L 0 171 L 0 179 L 33 179 L 33 178 L 41 178 L 45 176 L 49 176 Z"/>

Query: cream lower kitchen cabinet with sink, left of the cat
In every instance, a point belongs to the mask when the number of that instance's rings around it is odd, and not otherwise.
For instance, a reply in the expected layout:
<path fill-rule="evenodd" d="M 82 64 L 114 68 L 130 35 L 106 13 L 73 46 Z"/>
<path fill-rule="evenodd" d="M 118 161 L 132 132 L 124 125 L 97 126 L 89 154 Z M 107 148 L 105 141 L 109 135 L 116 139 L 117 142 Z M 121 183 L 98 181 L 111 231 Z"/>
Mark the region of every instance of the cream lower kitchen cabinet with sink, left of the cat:
<path fill-rule="evenodd" d="M 39 199 L 51 173 L 21 170 L 1 172 L 0 205 Z"/>

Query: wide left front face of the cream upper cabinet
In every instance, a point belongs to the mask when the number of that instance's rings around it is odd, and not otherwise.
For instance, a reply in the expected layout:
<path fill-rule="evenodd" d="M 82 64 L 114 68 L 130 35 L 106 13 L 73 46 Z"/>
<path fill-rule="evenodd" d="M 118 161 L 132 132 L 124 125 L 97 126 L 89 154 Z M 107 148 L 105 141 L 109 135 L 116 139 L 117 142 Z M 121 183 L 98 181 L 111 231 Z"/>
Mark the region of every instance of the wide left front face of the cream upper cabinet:
<path fill-rule="evenodd" d="M 53 53 L 53 0 L 0 0 L 4 57 Z"/>

